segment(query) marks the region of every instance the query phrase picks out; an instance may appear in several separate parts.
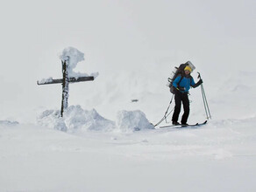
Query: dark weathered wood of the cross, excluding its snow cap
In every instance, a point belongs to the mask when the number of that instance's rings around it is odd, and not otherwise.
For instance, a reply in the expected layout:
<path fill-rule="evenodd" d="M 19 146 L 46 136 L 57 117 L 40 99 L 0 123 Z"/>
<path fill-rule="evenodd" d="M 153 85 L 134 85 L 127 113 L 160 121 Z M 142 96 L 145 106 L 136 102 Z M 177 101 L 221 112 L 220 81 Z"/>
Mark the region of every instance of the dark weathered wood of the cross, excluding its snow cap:
<path fill-rule="evenodd" d="M 62 84 L 62 101 L 61 101 L 61 109 L 60 109 L 60 115 L 63 117 L 64 111 L 68 108 L 68 91 L 69 91 L 69 83 L 76 83 L 76 82 L 81 82 L 81 81 L 90 81 L 94 80 L 93 76 L 87 76 L 87 77 L 70 77 L 69 78 L 69 70 L 68 70 L 68 64 L 69 64 L 69 57 L 67 60 L 63 61 L 61 60 L 62 63 L 62 74 L 63 78 L 62 79 L 51 79 L 47 80 L 46 82 L 37 82 L 39 86 L 41 85 L 47 85 L 47 84 Z"/>

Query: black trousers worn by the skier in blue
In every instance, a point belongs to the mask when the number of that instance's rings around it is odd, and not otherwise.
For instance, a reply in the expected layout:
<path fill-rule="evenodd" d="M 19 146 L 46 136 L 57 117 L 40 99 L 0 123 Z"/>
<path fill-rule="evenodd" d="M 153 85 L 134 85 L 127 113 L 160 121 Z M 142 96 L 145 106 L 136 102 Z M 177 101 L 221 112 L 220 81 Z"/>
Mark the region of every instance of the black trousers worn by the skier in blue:
<path fill-rule="evenodd" d="M 189 100 L 188 100 L 188 93 L 181 93 L 176 91 L 174 95 L 175 99 L 175 106 L 174 106 L 174 114 L 173 114 L 173 121 L 178 122 L 179 115 L 181 113 L 181 102 L 183 105 L 184 113 L 181 118 L 181 124 L 186 124 L 189 115 Z"/>

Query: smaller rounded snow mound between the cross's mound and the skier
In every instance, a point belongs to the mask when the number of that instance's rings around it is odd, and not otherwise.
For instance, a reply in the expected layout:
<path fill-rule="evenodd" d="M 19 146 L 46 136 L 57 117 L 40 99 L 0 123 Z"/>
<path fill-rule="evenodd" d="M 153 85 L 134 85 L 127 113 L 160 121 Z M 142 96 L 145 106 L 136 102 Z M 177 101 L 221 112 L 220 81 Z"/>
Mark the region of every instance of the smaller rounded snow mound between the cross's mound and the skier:
<path fill-rule="evenodd" d="M 153 129 L 145 113 L 137 111 L 120 111 L 117 113 L 117 127 L 123 132 Z"/>

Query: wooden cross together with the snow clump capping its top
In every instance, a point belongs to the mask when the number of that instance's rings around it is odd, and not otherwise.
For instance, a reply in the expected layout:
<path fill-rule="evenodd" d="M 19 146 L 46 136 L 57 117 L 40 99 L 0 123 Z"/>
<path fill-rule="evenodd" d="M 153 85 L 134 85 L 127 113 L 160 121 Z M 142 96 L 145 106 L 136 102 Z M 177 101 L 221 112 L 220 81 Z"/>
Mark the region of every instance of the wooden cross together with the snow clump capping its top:
<path fill-rule="evenodd" d="M 90 76 L 86 73 L 73 72 L 73 69 L 78 62 L 84 60 L 84 54 L 81 51 L 73 47 L 68 47 L 62 51 L 60 54 L 60 59 L 62 63 L 62 79 L 42 79 L 38 81 L 38 85 L 48 85 L 48 84 L 62 84 L 62 101 L 60 115 L 63 116 L 63 113 L 66 108 L 68 108 L 68 90 L 69 83 L 76 83 L 81 81 L 91 81 L 96 78 L 98 72 L 92 73 Z"/>

